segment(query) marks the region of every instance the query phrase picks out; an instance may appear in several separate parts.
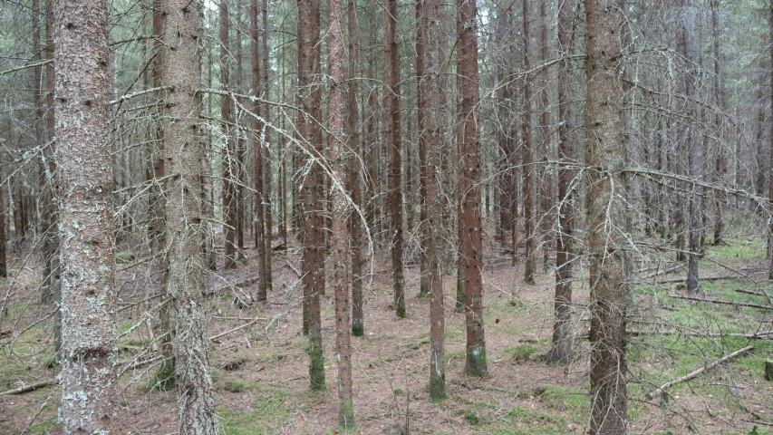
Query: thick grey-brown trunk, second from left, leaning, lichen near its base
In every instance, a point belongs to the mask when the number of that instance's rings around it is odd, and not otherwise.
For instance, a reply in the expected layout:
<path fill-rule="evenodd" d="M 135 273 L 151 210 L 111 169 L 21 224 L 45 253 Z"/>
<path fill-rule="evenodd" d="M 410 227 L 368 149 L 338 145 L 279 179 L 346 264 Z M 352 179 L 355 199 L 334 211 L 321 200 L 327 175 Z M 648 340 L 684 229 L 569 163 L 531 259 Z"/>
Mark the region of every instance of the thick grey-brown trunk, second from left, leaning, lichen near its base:
<path fill-rule="evenodd" d="M 161 73 L 165 95 L 164 157 L 169 178 L 165 186 L 169 282 L 167 295 L 172 354 L 179 392 L 179 432 L 217 433 L 215 398 L 209 371 L 207 314 L 204 293 L 202 210 L 198 196 L 203 177 L 204 145 L 200 140 L 201 78 L 200 0 L 164 0 L 166 25 Z"/>

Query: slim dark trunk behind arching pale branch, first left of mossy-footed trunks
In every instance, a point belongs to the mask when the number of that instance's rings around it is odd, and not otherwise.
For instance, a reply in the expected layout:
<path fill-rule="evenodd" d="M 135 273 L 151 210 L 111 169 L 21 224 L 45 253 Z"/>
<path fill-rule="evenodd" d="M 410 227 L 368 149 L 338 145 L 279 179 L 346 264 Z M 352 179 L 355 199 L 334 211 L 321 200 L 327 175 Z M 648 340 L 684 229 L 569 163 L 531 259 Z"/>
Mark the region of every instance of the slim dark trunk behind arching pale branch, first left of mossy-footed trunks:
<path fill-rule="evenodd" d="M 257 23 L 257 0 L 251 0 L 250 2 L 250 53 L 252 60 L 252 92 L 256 97 L 260 97 L 261 82 L 260 82 L 260 53 L 258 50 L 258 23 Z M 253 103 L 253 111 L 260 113 L 262 104 L 258 101 Z M 257 300 L 259 302 L 266 301 L 267 286 L 266 286 L 266 256 L 270 256 L 270 252 L 266 252 L 266 233 L 264 230 L 264 211 L 263 211 L 263 147 L 265 134 L 265 126 L 262 122 L 256 121 L 255 128 L 258 131 L 259 136 L 252 142 L 253 156 L 255 162 L 253 165 L 253 178 L 255 182 L 255 250 L 257 256 Z"/>

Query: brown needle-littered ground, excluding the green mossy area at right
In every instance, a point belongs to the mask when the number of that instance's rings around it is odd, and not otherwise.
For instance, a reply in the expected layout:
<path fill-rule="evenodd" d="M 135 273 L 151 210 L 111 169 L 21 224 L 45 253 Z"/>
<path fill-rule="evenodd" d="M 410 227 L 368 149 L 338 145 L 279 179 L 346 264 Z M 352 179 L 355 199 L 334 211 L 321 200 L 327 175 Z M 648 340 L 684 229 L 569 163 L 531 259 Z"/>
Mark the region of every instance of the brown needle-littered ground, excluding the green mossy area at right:
<path fill-rule="evenodd" d="M 408 426 L 411 433 L 446 434 L 517 434 L 517 433 L 583 433 L 586 430 L 586 410 L 576 407 L 566 399 L 567 394 L 583 396 L 587 391 L 587 343 L 578 341 L 575 349 L 578 357 L 568 368 L 552 366 L 541 361 L 540 354 L 548 349 L 551 334 L 552 292 L 554 277 L 542 273 L 536 285 L 521 284 L 522 263 L 510 266 L 498 249 L 488 247 L 485 281 L 486 339 L 488 353 L 488 379 L 469 378 L 464 367 L 464 316 L 453 312 L 455 283 L 451 277 L 444 285 L 446 292 L 446 381 L 449 398 L 438 404 L 428 401 L 427 378 L 429 370 L 429 300 L 419 299 L 418 267 L 407 268 L 408 317 L 397 319 L 391 312 L 391 284 L 386 261 L 372 265 L 372 282 L 365 292 L 365 333 L 353 337 L 353 384 L 354 406 L 358 433 L 397 434 Z M 382 255 L 380 258 L 387 258 Z M 328 390 L 308 390 L 308 357 L 304 352 L 306 340 L 301 335 L 301 307 L 298 295 L 300 285 L 287 291 L 297 282 L 298 276 L 289 261 L 297 268 L 297 255 L 274 257 L 274 291 L 267 304 L 252 304 L 238 308 L 231 304 L 233 293 L 223 291 L 220 297 L 210 300 L 210 335 L 225 332 L 244 324 L 234 319 L 263 319 L 281 317 L 269 325 L 268 320 L 229 333 L 213 343 L 211 363 L 215 380 L 218 415 L 228 433 L 287 433 L 323 434 L 337 433 L 335 399 L 333 299 L 322 298 L 323 335 L 326 361 L 325 374 Z M 138 267 L 138 270 L 141 266 Z M 19 295 L 33 292 L 31 267 L 21 269 L 17 282 Z M 250 266 L 232 272 L 229 279 L 247 276 Z M 138 272 L 139 273 L 139 272 Z M 121 274 L 129 281 L 137 275 L 131 271 Z M 235 278 L 235 276 L 237 278 Z M 210 278 L 210 280 L 215 278 Z M 575 285 L 578 306 L 586 300 L 586 285 Z M 124 285 L 122 292 L 136 292 L 132 285 Z M 246 286 L 247 294 L 255 291 Z M 219 311 L 218 311 L 219 310 Z M 30 310 L 32 311 L 32 310 Z M 137 322 L 138 312 L 128 310 Z M 127 313 L 127 312 L 124 312 Z M 29 314 L 28 317 L 32 317 Z M 231 317 L 231 318 L 222 318 Z M 576 317 L 582 317 L 577 315 Z M 31 324 L 27 318 L 24 323 Z M 8 321 L 2 324 L 8 328 Z M 578 331 L 585 331 L 585 323 L 578 321 Z M 20 340 L 29 348 L 39 348 L 37 359 L 24 361 L 9 355 L 3 349 L 3 363 L 10 364 L 4 376 L 8 388 L 18 382 L 34 382 L 51 378 L 55 369 L 42 368 L 44 349 L 50 353 L 50 331 L 40 333 L 27 341 Z M 144 326 L 136 330 L 138 337 L 147 335 Z M 5 343 L 2 337 L 0 343 Z M 516 358 L 507 350 L 527 344 L 536 353 L 526 358 Z M 512 352 L 512 351 L 510 351 Z M 130 353 L 121 353 L 125 360 Z M 229 362 L 241 362 L 236 370 L 223 367 Z M 633 367 L 632 379 L 657 371 L 661 362 L 653 359 L 645 367 Z M 119 433 L 170 434 L 176 432 L 175 391 L 147 392 L 148 367 L 128 372 L 121 379 L 121 410 Z M 724 374 L 722 374 L 724 373 Z M 748 420 L 759 420 L 771 397 L 771 387 L 749 388 L 757 382 L 749 373 L 728 371 L 707 375 L 710 381 L 732 383 L 728 394 L 720 397 L 684 391 L 674 397 L 666 407 L 644 400 L 643 393 L 632 395 L 630 403 L 635 407 L 631 421 L 631 433 L 687 433 L 688 421 L 695 425 L 692 433 L 748 433 Z M 730 378 L 730 379 L 728 379 Z M 241 392 L 227 390 L 228 382 L 245 382 Z M 0 384 L 3 385 L 3 384 Z M 555 387 L 565 390 L 555 390 Z M 5 388 L 0 388 L 5 389 Z M 548 391 L 563 391 L 564 396 L 548 397 Z M 633 390 L 632 390 L 633 391 Z M 559 394 L 560 396 L 560 394 Z M 46 388 L 23 395 L 0 396 L 0 433 L 58 433 L 55 426 L 56 403 L 59 393 Z M 756 415 L 739 412 L 742 402 L 756 410 Z M 407 411 L 407 413 L 406 413 Z M 250 416 L 242 420 L 241 416 Z M 235 429 L 240 427 L 241 430 Z M 230 429 L 229 429 L 230 428 Z"/>

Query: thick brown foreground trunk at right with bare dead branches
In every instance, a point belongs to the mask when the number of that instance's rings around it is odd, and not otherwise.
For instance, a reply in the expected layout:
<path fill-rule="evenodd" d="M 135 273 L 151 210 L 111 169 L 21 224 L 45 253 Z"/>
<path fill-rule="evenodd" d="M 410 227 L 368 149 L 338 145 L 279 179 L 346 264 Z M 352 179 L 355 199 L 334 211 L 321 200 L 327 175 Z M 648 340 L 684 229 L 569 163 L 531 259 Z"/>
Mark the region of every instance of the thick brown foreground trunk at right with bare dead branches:
<path fill-rule="evenodd" d="M 626 431 L 623 88 L 619 0 L 585 0 L 592 434 Z"/>

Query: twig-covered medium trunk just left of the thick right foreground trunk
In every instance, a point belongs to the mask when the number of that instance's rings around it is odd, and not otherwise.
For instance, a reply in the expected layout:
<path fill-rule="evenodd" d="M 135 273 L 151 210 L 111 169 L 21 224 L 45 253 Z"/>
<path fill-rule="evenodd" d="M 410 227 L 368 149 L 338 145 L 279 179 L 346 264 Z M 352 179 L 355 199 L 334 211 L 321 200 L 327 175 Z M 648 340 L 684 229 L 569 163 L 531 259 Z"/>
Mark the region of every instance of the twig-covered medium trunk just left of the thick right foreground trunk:
<path fill-rule="evenodd" d="M 572 116 L 572 63 L 568 57 L 574 53 L 572 22 L 575 17 L 575 1 L 559 1 L 558 5 L 558 53 L 565 56 L 561 63 L 558 84 L 558 228 L 556 235 L 556 301 L 554 302 L 553 343 L 548 357 L 561 364 L 572 362 L 572 260 L 575 237 L 575 135 Z M 570 136 L 571 135 L 571 136 Z"/>

